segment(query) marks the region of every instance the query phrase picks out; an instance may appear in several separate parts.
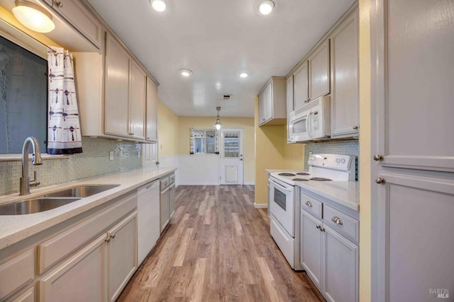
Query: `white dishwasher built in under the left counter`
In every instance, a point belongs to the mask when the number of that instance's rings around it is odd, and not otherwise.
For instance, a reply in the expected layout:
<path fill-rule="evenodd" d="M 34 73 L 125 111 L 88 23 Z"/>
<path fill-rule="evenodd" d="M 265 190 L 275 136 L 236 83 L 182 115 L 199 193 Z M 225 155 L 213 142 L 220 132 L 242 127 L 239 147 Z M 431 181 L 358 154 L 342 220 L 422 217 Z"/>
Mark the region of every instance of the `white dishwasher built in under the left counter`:
<path fill-rule="evenodd" d="M 138 188 L 137 200 L 137 257 L 140 265 L 160 236 L 159 180 Z"/>

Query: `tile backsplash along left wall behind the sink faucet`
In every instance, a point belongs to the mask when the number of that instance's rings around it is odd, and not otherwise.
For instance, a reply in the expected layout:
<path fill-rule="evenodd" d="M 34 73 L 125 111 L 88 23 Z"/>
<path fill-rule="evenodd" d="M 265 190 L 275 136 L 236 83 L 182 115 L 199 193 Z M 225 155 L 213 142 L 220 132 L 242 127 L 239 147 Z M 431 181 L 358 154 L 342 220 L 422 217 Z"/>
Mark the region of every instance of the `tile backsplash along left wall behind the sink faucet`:
<path fill-rule="evenodd" d="M 45 160 L 43 165 L 28 165 L 28 173 L 38 172 L 40 187 L 90 178 L 140 168 L 141 145 L 126 141 L 82 137 L 84 153 L 70 155 L 67 159 Z M 114 160 L 109 160 L 109 152 L 114 151 Z M 21 161 L 0 162 L 0 195 L 19 192 Z"/>

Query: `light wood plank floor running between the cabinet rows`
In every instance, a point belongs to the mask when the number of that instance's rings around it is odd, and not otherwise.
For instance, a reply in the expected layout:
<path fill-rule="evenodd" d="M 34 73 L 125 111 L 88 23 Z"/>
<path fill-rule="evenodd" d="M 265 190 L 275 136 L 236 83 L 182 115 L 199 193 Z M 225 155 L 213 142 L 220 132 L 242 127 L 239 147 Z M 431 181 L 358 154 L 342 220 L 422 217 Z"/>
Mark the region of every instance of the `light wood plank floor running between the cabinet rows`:
<path fill-rule="evenodd" d="M 177 210 L 118 301 L 324 301 L 270 236 L 254 187 L 179 186 Z"/>

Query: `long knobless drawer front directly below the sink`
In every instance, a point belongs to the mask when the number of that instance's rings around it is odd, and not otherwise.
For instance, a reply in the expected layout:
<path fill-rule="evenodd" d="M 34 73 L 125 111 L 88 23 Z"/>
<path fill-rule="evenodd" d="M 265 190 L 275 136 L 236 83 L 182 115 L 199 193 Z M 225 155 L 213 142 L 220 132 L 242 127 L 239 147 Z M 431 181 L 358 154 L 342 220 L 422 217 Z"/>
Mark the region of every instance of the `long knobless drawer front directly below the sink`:
<path fill-rule="evenodd" d="M 114 207 L 106 209 L 102 213 L 38 245 L 38 274 L 101 233 L 125 214 L 133 211 L 135 207 L 137 207 L 137 195 L 133 194 Z"/>

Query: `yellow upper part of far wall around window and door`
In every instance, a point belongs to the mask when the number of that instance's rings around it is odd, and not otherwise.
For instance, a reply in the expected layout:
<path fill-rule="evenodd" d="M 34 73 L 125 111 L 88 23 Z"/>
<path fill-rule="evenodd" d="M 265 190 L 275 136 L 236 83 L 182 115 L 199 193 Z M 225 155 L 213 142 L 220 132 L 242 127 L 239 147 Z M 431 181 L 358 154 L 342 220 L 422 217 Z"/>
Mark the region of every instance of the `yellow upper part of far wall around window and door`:
<path fill-rule="evenodd" d="M 178 153 L 189 154 L 189 129 L 213 129 L 216 117 L 179 117 Z M 244 129 L 244 182 L 252 183 L 255 178 L 254 158 L 254 119 L 253 117 L 222 117 L 223 127 L 241 127 Z"/>

